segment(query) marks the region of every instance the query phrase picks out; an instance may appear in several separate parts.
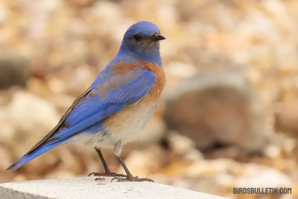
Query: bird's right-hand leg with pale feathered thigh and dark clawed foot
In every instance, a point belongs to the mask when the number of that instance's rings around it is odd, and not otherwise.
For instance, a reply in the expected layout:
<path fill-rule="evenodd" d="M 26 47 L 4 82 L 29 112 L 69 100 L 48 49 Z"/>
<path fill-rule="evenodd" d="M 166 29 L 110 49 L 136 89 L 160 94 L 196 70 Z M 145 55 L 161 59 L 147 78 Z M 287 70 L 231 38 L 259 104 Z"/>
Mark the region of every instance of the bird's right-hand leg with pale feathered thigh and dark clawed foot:
<path fill-rule="evenodd" d="M 125 170 L 125 173 L 127 175 L 126 178 L 119 178 L 119 177 L 114 177 L 111 181 L 117 180 L 118 182 L 143 182 L 143 181 L 149 181 L 149 182 L 154 182 L 150 178 L 138 178 L 138 176 L 134 177 L 131 172 L 128 170 L 127 166 L 125 165 L 123 159 L 121 158 L 121 142 L 118 142 L 114 146 L 114 153 L 116 154 L 118 160 L 120 161 L 123 169 Z"/>

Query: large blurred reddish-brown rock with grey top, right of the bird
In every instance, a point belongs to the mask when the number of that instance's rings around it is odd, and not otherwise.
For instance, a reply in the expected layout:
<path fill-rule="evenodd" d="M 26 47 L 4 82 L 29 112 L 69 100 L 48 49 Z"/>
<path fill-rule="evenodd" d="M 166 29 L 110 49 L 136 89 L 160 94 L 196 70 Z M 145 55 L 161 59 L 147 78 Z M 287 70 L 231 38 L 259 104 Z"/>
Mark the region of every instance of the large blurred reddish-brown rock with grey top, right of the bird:
<path fill-rule="evenodd" d="M 220 143 L 258 151 L 266 144 L 265 107 L 240 68 L 201 72 L 165 98 L 168 127 L 193 139 L 198 149 Z"/>

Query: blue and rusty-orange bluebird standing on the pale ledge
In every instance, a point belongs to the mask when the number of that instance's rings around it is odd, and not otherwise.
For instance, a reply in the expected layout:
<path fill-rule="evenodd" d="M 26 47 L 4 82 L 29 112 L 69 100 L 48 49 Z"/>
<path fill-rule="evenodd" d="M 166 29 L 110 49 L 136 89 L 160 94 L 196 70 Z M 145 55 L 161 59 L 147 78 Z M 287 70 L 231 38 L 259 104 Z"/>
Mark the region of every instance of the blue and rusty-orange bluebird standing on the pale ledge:
<path fill-rule="evenodd" d="M 164 39 L 152 22 L 131 25 L 117 55 L 90 87 L 47 135 L 7 170 L 15 171 L 56 146 L 81 143 L 94 147 L 105 169 L 104 173 L 92 172 L 89 176 L 111 176 L 112 181 L 118 182 L 153 182 L 150 178 L 134 177 L 121 158 L 121 151 L 124 144 L 136 139 L 156 111 L 166 83 L 160 55 L 160 41 Z M 113 150 L 126 175 L 111 172 L 102 148 Z"/>

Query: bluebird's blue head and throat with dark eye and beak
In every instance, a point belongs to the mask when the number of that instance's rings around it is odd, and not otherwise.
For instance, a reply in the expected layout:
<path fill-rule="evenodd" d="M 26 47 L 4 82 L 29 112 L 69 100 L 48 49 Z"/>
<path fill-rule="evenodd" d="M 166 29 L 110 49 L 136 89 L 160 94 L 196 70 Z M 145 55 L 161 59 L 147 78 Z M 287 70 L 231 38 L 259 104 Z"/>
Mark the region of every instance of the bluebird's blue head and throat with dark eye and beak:
<path fill-rule="evenodd" d="M 119 53 L 129 53 L 134 58 L 161 66 L 159 27 L 149 21 L 140 21 L 125 32 Z"/>

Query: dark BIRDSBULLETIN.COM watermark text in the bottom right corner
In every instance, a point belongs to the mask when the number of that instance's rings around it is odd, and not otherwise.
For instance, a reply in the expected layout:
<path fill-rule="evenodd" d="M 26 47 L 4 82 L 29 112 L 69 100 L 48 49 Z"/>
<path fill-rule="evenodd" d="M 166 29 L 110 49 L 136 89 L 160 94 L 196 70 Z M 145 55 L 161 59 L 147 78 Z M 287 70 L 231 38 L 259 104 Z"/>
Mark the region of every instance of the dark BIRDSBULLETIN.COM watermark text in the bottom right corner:
<path fill-rule="evenodd" d="M 233 194 L 292 194 L 292 188 L 233 188 Z"/>

